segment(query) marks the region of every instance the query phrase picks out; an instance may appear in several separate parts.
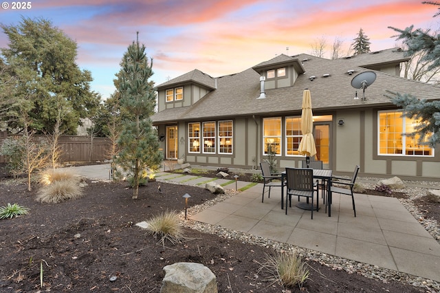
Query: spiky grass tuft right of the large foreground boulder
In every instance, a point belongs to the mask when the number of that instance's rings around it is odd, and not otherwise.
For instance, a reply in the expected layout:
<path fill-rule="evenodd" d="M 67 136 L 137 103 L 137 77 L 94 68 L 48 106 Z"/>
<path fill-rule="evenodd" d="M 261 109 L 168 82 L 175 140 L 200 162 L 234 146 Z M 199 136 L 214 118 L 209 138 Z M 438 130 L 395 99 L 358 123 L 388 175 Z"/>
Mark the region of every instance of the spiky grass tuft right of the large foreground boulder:
<path fill-rule="evenodd" d="M 267 281 L 278 282 L 285 287 L 298 285 L 301 288 L 309 278 L 309 270 L 298 252 L 266 254 L 265 260 L 259 271 L 265 270 L 272 274 L 272 278 Z"/>

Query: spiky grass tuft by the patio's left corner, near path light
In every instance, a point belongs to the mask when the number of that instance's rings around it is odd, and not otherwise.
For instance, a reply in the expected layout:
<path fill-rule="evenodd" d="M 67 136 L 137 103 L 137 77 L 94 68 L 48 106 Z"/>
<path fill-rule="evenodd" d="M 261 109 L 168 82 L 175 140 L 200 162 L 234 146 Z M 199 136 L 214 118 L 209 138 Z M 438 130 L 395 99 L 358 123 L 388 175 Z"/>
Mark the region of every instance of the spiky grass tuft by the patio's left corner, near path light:
<path fill-rule="evenodd" d="M 179 224 L 179 215 L 176 211 L 161 213 L 155 217 L 151 217 L 146 221 L 148 224 L 147 233 L 153 235 L 155 239 L 160 237 L 157 243 L 162 243 L 165 246 L 165 241 L 171 243 L 179 243 L 184 239 L 184 234 Z"/>

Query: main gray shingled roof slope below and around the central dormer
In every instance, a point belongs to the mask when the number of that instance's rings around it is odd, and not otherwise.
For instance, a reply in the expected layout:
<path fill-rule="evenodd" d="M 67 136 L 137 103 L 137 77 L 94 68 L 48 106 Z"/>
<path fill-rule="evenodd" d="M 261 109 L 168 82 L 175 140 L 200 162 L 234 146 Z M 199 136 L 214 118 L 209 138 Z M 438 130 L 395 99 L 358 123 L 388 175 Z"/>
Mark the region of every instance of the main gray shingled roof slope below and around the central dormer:
<path fill-rule="evenodd" d="M 158 123 L 252 115 L 299 115 L 304 89 L 309 89 L 311 92 L 314 114 L 335 109 L 393 107 L 393 104 L 385 96 L 387 90 L 412 94 L 418 98 L 439 98 L 440 87 L 437 85 L 428 85 L 383 72 L 375 72 L 377 74 L 376 80 L 365 92 L 366 101 L 354 100 L 356 89 L 351 87 L 351 80 L 360 72 L 369 71 L 359 65 L 404 59 L 403 54 L 396 50 L 384 50 L 383 53 L 383 56 L 380 52 L 336 60 L 300 54 L 295 58 L 300 61 L 307 58 L 307 61 L 303 63 L 305 74 L 298 76 L 293 87 L 267 89 L 265 91 L 266 98 L 263 99 L 259 99 L 259 74 L 250 68 L 239 74 L 218 78 L 217 89 L 211 91 L 194 105 L 166 109 L 155 113 L 152 119 L 153 122 Z M 355 72 L 349 75 L 347 74 L 349 69 L 353 69 Z M 323 77 L 323 74 L 329 74 L 329 76 Z M 309 76 L 316 76 L 316 78 L 311 81 Z M 358 96 L 362 97 L 362 89 L 358 89 Z"/>

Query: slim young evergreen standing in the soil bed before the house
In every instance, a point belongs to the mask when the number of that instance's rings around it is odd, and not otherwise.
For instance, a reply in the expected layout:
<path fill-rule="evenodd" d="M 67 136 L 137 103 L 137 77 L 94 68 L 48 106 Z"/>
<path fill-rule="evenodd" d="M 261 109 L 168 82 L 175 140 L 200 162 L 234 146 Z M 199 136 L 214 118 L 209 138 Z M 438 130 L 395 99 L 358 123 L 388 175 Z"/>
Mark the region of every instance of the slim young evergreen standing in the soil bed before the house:
<path fill-rule="evenodd" d="M 142 173 L 145 169 L 158 169 L 162 162 L 159 140 L 150 116 L 155 109 L 155 92 L 148 78 L 153 75 L 139 41 L 129 45 L 121 62 L 119 92 L 121 108 L 131 113 L 124 120 L 118 140 L 120 152 L 115 162 L 133 176 L 133 199 L 137 199 Z"/>

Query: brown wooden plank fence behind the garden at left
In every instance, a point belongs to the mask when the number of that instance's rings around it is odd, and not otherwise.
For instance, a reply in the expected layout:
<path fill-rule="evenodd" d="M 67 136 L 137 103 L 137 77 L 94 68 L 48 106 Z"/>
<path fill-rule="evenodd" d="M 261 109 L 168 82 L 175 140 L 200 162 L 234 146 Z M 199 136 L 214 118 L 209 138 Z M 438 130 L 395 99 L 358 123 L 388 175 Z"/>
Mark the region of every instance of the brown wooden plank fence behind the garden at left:
<path fill-rule="evenodd" d="M 0 146 L 8 138 L 8 133 L 0 132 Z M 36 140 L 45 139 L 45 135 L 34 135 Z M 62 135 L 58 140 L 61 162 L 96 162 L 110 159 L 111 140 L 109 138 L 94 138 L 89 136 Z M 0 155 L 0 162 L 5 162 Z"/>

